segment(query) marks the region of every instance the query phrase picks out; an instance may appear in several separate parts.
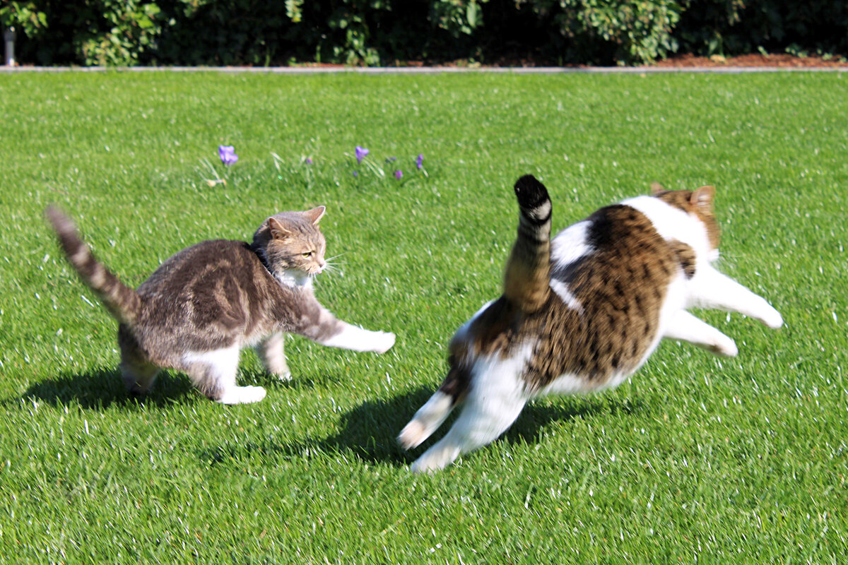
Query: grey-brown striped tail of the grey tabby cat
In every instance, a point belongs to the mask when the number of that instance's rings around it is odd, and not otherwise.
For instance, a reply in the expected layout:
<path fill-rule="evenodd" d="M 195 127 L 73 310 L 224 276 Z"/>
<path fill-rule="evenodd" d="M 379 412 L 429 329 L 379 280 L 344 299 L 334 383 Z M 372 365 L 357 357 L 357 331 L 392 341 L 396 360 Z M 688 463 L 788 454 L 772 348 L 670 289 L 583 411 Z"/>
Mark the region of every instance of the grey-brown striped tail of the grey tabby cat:
<path fill-rule="evenodd" d="M 92 250 L 80 239 L 74 222 L 59 208 L 48 206 L 44 215 L 59 235 L 59 244 L 68 261 L 86 285 L 98 294 L 109 313 L 122 324 L 134 324 L 141 311 L 141 296 L 94 258 Z"/>

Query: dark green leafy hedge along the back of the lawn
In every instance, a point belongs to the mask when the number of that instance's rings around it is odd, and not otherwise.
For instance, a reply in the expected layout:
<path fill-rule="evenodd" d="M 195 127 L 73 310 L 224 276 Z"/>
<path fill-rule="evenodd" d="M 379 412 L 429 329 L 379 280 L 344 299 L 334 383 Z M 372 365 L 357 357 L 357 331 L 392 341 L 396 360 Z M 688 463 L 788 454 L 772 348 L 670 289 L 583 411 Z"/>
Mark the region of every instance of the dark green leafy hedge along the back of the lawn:
<path fill-rule="evenodd" d="M 22 64 L 639 64 L 848 54 L 844 0 L 25 0 Z"/>

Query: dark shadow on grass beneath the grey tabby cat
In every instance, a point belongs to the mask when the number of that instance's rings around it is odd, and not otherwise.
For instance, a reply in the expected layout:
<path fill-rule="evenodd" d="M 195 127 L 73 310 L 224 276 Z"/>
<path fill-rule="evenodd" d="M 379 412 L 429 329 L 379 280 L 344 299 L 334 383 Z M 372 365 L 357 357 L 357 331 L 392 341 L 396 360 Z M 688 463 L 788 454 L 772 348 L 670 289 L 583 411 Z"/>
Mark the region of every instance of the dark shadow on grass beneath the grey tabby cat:
<path fill-rule="evenodd" d="M 104 410 L 112 404 L 167 406 L 184 402 L 192 394 L 194 387 L 185 375 L 161 371 L 147 395 L 133 396 L 126 390 L 117 368 L 94 368 L 42 380 L 31 385 L 21 398 L 52 406 L 78 404 L 85 410 Z"/>

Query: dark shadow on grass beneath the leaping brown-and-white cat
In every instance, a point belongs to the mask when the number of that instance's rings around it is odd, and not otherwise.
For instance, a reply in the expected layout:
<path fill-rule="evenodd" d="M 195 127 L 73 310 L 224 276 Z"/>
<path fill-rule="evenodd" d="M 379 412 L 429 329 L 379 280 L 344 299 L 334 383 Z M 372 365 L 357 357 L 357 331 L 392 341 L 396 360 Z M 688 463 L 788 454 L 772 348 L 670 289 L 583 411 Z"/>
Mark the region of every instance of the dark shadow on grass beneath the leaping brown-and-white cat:
<path fill-rule="evenodd" d="M 287 445 L 262 440 L 226 444 L 204 450 L 200 457 L 210 465 L 226 465 L 252 460 L 255 457 L 264 459 L 266 463 L 273 463 L 275 460 L 312 457 L 316 454 L 322 454 L 323 457 L 338 454 L 368 464 L 388 463 L 395 467 L 404 467 L 441 439 L 461 412 L 461 407 L 456 409 L 421 446 L 404 451 L 396 440 L 397 435 L 431 395 L 432 388 L 421 387 L 388 400 L 363 402 L 343 415 L 338 434 L 324 439 L 310 439 Z M 636 410 L 639 410 L 639 403 L 634 404 L 631 400 L 619 401 L 598 396 L 561 397 L 550 402 L 530 403 L 516 423 L 496 441 L 507 441 L 510 444 L 534 443 L 540 439 L 542 429 L 554 421 L 567 422 L 604 413 L 633 413 Z M 473 457 L 473 454 L 466 457 Z"/>

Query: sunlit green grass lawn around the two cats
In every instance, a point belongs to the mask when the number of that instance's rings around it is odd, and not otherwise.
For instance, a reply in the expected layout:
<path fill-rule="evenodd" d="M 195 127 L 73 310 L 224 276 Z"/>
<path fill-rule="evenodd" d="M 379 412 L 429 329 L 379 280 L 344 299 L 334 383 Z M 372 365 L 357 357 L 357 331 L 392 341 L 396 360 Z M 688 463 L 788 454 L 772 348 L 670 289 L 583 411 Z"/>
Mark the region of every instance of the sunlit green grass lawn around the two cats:
<path fill-rule="evenodd" d="M 8 74 L 0 116 L 0 562 L 846 562 L 848 75 Z M 721 269 L 786 325 L 699 313 L 739 357 L 665 342 L 412 475 L 394 437 L 499 294 L 527 173 L 555 230 L 653 180 L 715 185 Z M 132 400 L 49 202 L 131 285 L 324 204 L 319 300 L 397 344 L 293 338 L 285 384 L 243 352 L 254 405 L 176 372 Z"/>

